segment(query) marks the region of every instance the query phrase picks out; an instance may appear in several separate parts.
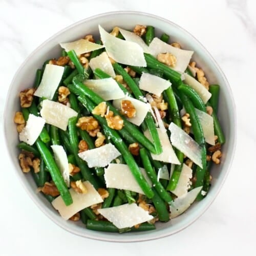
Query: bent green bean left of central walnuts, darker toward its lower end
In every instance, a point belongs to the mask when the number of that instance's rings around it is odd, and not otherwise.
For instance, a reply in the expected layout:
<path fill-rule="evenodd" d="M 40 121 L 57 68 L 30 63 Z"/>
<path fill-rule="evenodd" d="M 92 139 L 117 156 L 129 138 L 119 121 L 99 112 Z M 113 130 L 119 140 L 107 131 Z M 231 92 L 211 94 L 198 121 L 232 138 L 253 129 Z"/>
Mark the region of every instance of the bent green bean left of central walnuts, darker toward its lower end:
<path fill-rule="evenodd" d="M 99 188 L 99 182 L 95 179 L 93 174 L 91 173 L 91 170 L 87 166 L 86 162 L 84 162 L 79 156 L 78 156 L 78 135 L 77 135 L 77 127 L 76 127 L 76 117 L 71 117 L 69 119 L 68 127 L 69 127 L 69 135 L 70 135 L 70 145 L 72 148 L 72 152 L 75 156 L 76 163 L 78 167 L 80 168 L 80 172 L 82 177 L 85 180 L 90 181 L 90 183 L 96 188 Z"/>

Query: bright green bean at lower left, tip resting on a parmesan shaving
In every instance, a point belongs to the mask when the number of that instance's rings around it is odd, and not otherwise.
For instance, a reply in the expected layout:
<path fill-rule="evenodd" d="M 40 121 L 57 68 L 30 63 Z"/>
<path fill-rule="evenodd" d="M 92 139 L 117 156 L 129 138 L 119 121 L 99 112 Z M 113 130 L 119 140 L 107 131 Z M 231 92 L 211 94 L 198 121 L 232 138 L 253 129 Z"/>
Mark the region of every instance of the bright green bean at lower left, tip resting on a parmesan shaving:
<path fill-rule="evenodd" d="M 59 170 L 57 164 L 55 163 L 51 152 L 48 150 L 48 147 L 40 139 L 37 139 L 35 144 L 37 146 L 38 151 L 40 152 L 40 154 L 42 156 L 42 159 L 44 159 L 44 162 L 49 169 L 52 180 L 55 183 L 64 203 L 66 205 L 72 204 L 73 200 L 70 195 L 69 189 L 68 189 L 63 177 L 61 176 L 60 170 Z"/>

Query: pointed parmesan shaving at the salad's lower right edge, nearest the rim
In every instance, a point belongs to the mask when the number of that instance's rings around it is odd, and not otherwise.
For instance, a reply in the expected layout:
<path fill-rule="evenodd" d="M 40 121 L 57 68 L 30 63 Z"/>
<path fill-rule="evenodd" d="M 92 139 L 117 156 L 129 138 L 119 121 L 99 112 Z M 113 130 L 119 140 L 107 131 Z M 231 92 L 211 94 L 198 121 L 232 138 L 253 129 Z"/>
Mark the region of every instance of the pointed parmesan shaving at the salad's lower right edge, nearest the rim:
<path fill-rule="evenodd" d="M 190 190 L 185 196 L 177 197 L 170 203 L 170 218 L 175 218 L 181 214 L 196 200 L 197 195 L 200 193 L 201 187 L 196 187 Z"/>

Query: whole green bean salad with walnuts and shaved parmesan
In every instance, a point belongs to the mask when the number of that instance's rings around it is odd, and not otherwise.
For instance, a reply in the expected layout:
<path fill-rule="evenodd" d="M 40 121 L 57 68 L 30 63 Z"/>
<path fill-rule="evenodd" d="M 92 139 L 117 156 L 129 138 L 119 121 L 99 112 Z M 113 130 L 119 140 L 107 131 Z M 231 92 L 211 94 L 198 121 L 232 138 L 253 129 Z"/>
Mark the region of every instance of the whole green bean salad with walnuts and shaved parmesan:
<path fill-rule="evenodd" d="M 152 26 L 97 37 L 60 42 L 19 93 L 20 167 L 67 221 L 153 230 L 207 196 L 225 143 L 220 87 Z"/>

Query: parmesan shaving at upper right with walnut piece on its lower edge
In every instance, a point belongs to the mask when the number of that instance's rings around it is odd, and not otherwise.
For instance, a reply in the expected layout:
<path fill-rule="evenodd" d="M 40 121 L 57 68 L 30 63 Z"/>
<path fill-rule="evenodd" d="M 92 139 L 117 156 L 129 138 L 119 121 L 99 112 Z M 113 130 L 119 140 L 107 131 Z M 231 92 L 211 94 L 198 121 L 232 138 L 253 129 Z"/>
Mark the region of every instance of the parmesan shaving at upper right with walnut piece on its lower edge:
<path fill-rule="evenodd" d="M 191 59 L 191 56 L 193 55 L 194 51 L 187 51 L 182 50 L 176 47 L 173 47 L 169 44 L 166 44 L 166 42 L 163 42 L 159 38 L 155 37 L 151 44 L 150 44 L 150 51 L 152 52 L 152 55 L 157 57 L 159 53 L 172 53 L 176 59 L 176 65 L 175 67 L 172 67 L 172 69 L 179 71 L 183 73 Z"/>

